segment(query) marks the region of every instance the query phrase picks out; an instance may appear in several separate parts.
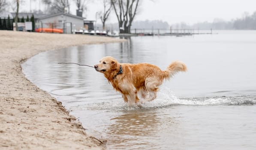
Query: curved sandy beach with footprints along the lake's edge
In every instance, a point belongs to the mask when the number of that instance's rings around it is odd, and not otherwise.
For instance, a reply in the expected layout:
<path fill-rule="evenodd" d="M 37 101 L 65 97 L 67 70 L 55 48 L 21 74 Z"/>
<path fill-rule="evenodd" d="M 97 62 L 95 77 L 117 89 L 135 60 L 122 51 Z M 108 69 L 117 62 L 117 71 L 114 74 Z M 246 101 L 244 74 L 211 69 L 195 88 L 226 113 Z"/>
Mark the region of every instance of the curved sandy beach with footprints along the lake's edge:
<path fill-rule="evenodd" d="M 21 62 L 42 51 L 122 42 L 101 36 L 0 31 L 0 149 L 102 150 L 76 118 L 24 77 Z"/>

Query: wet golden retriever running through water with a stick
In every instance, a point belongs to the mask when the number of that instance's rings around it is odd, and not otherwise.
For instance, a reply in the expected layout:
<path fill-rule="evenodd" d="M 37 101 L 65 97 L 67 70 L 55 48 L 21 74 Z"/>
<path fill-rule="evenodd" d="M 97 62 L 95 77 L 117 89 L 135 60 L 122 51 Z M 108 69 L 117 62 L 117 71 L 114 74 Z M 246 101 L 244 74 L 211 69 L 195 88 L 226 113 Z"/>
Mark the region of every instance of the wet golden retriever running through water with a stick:
<path fill-rule="evenodd" d="M 145 101 L 157 97 L 158 87 L 164 79 L 169 79 L 177 72 L 187 71 L 181 61 L 172 62 L 165 71 L 148 63 L 118 63 L 113 57 L 103 57 L 94 65 L 96 71 L 104 74 L 115 90 L 122 94 L 124 102 L 132 106 L 139 102 L 138 95 Z"/>

